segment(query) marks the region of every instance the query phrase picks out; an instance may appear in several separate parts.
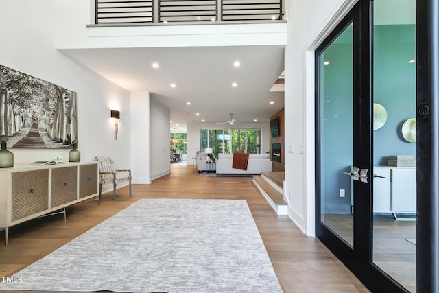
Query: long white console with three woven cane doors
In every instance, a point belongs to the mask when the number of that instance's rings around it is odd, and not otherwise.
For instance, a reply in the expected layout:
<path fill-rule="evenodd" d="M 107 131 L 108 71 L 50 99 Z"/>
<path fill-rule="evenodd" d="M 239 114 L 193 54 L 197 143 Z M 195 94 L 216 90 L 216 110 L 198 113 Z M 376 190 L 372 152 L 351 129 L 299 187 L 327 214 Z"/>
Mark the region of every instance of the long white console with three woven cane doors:
<path fill-rule="evenodd" d="M 0 169 L 0 228 L 9 227 L 97 197 L 97 162 L 22 165 Z"/>

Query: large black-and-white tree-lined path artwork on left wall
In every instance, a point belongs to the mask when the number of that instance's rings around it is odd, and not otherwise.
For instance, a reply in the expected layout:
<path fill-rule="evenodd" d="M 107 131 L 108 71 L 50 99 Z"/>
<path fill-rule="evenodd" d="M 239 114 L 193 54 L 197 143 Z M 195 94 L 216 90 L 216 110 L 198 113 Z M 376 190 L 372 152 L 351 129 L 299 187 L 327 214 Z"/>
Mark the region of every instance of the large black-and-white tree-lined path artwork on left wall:
<path fill-rule="evenodd" d="M 0 135 L 9 148 L 70 148 L 76 93 L 0 65 Z"/>

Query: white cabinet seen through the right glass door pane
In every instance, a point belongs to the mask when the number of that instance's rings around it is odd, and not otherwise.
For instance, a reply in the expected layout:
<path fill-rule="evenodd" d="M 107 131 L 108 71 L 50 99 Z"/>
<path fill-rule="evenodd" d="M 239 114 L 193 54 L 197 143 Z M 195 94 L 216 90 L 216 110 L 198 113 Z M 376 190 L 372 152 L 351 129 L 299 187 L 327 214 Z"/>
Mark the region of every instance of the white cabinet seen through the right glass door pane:
<path fill-rule="evenodd" d="M 373 211 L 416 213 L 416 167 L 374 167 Z"/>

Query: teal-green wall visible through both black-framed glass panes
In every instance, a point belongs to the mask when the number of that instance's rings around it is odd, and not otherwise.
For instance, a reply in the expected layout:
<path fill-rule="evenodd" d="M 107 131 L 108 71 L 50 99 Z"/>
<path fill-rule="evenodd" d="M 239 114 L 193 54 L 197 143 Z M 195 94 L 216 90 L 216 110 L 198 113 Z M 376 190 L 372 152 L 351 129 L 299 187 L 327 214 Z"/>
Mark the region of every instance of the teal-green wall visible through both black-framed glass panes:
<path fill-rule="evenodd" d="M 322 209 L 326 213 L 351 212 L 351 178 L 342 174 L 350 172 L 353 156 L 351 30 L 348 27 L 324 52 L 330 64 L 322 66 Z M 373 132 L 374 165 L 387 165 L 393 154 L 416 154 L 416 143 L 408 143 L 401 134 L 403 122 L 416 117 L 416 63 L 408 63 L 416 54 L 415 26 L 376 25 L 374 38 L 374 102 L 388 112 L 384 126 Z M 345 189 L 344 198 L 339 189 Z"/>

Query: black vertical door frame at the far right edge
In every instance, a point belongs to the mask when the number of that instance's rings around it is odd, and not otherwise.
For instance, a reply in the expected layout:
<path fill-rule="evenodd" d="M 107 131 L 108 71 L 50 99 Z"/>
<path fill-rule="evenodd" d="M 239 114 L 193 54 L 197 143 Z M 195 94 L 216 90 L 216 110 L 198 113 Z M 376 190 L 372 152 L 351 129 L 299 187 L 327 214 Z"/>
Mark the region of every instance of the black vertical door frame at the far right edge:
<path fill-rule="evenodd" d="M 416 288 L 439 292 L 439 1 L 416 1 Z"/>

